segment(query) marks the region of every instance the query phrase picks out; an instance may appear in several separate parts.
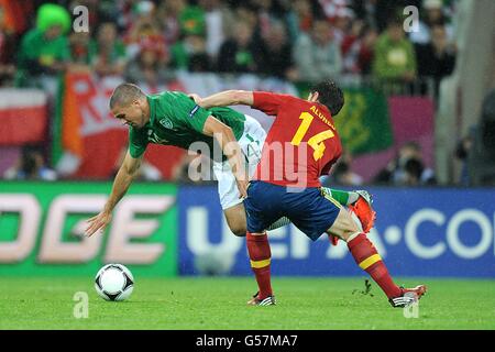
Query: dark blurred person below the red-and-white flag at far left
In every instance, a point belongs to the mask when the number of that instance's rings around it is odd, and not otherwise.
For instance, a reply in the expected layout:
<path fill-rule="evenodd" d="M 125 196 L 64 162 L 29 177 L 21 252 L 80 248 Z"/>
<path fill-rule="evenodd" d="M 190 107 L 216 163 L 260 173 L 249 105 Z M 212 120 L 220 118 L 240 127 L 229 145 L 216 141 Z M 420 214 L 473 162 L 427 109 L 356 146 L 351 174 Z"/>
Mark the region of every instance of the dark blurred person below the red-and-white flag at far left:
<path fill-rule="evenodd" d="M 40 146 L 25 145 L 15 164 L 3 174 L 6 179 L 56 180 L 57 174 L 46 166 Z"/>

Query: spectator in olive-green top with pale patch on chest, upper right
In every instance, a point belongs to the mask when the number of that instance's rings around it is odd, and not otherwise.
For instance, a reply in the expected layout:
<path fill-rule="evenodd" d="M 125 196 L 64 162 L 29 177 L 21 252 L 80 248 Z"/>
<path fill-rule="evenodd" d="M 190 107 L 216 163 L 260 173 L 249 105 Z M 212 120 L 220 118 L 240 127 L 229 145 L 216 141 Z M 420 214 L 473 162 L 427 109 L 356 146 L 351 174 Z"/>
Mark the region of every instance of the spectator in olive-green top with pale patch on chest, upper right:
<path fill-rule="evenodd" d="M 387 30 L 378 36 L 373 74 L 385 82 L 410 82 L 416 79 L 415 50 L 398 20 L 392 20 Z"/>

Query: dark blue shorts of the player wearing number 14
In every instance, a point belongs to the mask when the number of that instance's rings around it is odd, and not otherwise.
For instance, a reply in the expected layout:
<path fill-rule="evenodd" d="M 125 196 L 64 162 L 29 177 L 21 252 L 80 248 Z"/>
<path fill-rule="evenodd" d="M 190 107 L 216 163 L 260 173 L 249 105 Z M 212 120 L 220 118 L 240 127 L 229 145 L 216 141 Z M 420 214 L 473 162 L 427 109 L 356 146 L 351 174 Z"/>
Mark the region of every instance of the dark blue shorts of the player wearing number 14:
<path fill-rule="evenodd" d="M 341 207 L 337 200 L 324 197 L 320 188 L 295 189 L 254 180 L 248 188 L 244 208 L 251 233 L 263 232 L 279 218 L 287 217 L 316 241 L 333 224 Z"/>

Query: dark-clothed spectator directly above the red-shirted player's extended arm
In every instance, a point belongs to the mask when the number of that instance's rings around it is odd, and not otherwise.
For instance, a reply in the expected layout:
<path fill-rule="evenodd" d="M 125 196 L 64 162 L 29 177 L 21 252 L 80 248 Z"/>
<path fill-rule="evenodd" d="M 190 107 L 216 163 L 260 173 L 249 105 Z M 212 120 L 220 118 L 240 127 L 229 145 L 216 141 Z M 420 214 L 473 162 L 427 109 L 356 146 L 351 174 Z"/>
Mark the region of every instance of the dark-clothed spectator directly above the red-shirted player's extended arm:
<path fill-rule="evenodd" d="M 254 73 L 255 44 L 252 41 L 253 29 L 244 21 L 238 21 L 234 37 L 227 40 L 220 47 L 218 70 L 221 73 Z"/>

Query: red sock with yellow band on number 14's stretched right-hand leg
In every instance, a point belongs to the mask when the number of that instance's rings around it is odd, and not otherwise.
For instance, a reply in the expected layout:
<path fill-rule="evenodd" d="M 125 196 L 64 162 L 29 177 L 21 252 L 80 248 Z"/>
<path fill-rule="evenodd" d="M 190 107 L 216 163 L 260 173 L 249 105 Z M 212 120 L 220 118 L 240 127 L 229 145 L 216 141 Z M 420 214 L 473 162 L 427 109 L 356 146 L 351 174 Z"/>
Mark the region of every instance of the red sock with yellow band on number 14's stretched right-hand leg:
<path fill-rule="evenodd" d="M 349 241 L 348 248 L 358 265 L 370 274 L 388 298 L 402 295 L 400 288 L 394 284 L 375 246 L 364 233 L 360 233 L 356 238 Z"/>

